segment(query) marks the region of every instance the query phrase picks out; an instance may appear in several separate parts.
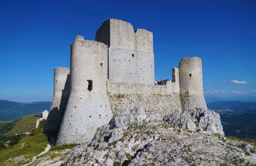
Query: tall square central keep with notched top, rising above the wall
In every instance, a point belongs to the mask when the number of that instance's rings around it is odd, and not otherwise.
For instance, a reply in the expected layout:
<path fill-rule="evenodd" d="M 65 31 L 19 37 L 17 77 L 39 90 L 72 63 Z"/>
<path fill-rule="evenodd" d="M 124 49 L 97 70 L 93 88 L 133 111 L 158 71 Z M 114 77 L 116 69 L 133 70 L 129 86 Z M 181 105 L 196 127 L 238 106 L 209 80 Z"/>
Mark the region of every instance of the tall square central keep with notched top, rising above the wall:
<path fill-rule="evenodd" d="M 107 19 L 95 40 L 108 45 L 110 82 L 155 84 L 153 33 L 129 22 Z"/>

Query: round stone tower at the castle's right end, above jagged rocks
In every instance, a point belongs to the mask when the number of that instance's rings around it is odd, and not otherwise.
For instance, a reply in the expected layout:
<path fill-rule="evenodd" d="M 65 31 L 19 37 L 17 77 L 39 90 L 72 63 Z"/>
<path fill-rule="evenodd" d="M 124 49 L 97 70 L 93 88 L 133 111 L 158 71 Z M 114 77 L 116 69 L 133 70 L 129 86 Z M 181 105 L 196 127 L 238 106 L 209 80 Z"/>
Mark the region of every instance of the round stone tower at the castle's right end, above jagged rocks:
<path fill-rule="evenodd" d="M 179 63 L 179 80 L 182 109 L 206 108 L 203 96 L 202 60 L 185 57 Z"/>

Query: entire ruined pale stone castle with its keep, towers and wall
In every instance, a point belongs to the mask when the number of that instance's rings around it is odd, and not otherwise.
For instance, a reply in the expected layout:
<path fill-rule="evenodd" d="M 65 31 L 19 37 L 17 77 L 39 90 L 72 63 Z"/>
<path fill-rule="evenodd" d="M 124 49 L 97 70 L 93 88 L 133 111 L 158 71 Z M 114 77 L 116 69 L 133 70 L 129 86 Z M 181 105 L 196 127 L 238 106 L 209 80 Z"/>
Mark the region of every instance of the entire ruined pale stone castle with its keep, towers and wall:
<path fill-rule="evenodd" d="M 171 68 L 170 68 L 171 70 Z M 155 83 L 153 33 L 126 21 L 107 19 L 95 41 L 76 36 L 70 68 L 54 69 L 54 98 L 44 132 L 56 144 L 90 141 L 96 129 L 123 109 L 150 114 L 207 108 L 202 61 L 185 57 L 172 68 L 172 80 Z"/>

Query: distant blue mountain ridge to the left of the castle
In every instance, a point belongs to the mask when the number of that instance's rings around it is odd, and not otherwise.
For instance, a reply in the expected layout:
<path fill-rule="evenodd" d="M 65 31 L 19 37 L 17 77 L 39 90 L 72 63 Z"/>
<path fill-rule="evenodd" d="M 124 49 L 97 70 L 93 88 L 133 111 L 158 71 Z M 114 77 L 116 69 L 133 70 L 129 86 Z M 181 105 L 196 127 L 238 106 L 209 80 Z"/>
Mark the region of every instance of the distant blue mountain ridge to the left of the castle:
<path fill-rule="evenodd" d="M 51 107 L 52 102 L 20 103 L 8 100 L 0 100 L 0 121 L 17 120 L 30 114 L 40 114 Z"/>

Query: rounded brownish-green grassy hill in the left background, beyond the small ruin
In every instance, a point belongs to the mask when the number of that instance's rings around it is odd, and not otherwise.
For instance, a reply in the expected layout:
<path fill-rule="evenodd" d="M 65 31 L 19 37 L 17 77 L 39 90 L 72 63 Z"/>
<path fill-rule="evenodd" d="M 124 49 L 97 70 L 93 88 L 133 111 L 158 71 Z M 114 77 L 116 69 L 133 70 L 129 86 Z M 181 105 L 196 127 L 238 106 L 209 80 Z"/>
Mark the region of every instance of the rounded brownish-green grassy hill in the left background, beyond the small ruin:
<path fill-rule="evenodd" d="M 25 133 L 32 132 L 36 126 L 36 120 L 39 119 L 38 115 L 32 114 L 26 117 L 23 117 L 20 120 L 12 122 L 13 128 L 11 131 L 5 133 L 5 135 L 12 135 L 14 133 Z"/>

